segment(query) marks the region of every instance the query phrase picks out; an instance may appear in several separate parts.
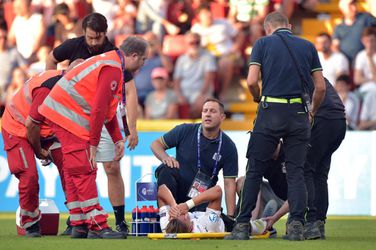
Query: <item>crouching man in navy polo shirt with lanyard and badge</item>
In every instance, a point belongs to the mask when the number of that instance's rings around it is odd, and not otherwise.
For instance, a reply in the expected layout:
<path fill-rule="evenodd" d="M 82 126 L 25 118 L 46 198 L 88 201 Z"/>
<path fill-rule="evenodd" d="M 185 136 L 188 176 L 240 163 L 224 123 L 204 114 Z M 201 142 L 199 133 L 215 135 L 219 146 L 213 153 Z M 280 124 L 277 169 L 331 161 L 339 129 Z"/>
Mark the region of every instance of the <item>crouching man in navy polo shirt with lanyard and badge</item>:
<path fill-rule="evenodd" d="M 234 216 L 238 153 L 233 141 L 220 129 L 224 119 L 223 104 L 207 99 L 201 123 L 176 126 L 155 140 L 151 149 L 163 163 L 156 170 L 158 186 L 165 184 L 177 203 L 215 186 L 222 169 L 227 214 Z M 176 148 L 176 159 L 165 152 L 169 148 Z M 195 210 L 205 208 L 198 206 Z"/>

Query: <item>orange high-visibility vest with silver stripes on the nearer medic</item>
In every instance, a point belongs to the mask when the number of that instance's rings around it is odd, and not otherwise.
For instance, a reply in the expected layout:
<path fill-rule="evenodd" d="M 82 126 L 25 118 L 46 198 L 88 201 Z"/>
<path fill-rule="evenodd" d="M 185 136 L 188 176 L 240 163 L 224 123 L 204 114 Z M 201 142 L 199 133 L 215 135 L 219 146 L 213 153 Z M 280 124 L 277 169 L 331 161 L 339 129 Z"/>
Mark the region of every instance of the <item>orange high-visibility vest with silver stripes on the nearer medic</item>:
<path fill-rule="evenodd" d="M 39 107 L 39 113 L 72 134 L 89 140 L 90 113 L 94 105 L 99 73 L 105 66 L 121 70 L 121 61 L 116 51 L 91 57 L 66 73 Z M 121 100 L 122 82 L 123 75 L 120 82 L 114 84 L 113 91 L 116 94 L 107 110 L 105 123 L 116 114 Z"/>

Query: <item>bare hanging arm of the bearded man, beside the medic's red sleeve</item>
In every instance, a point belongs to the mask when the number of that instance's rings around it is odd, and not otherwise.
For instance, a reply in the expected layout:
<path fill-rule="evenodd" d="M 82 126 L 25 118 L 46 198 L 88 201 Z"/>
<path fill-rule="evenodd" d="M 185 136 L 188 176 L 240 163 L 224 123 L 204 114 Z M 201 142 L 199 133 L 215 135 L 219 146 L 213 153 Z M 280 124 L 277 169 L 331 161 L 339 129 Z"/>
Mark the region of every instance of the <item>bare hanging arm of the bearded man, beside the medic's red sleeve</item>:
<path fill-rule="evenodd" d="M 130 80 L 125 84 L 125 97 L 127 100 L 127 118 L 130 135 L 127 137 L 128 148 L 134 149 L 138 144 L 137 135 L 137 113 L 138 113 L 138 97 L 134 80 Z"/>

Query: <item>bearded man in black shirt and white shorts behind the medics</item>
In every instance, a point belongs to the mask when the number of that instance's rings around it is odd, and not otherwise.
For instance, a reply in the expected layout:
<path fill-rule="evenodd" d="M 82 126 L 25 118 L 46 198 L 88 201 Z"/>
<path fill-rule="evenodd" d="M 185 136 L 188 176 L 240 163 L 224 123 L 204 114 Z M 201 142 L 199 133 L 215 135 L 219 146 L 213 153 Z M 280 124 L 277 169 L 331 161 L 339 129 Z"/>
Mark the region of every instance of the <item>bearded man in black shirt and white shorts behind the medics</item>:
<path fill-rule="evenodd" d="M 106 37 L 107 27 L 107 20 L 102 14 L 91 13 L 87 15 L 82 20 L 84 35 L 68 39 L 54 48 L 47 58 L 46 69 L 56 69 L 57 64 L 65 60 L 68 60 L 70 64 L 78 58 L 88 59 L 92 56 L 117 49 Z M 132 74 L 127 71 L 125 72 L 125 77 L 126 82 L 133 79 Z M 137 107 L 127 107 L 127 109 L 137 110 Z M 127 137 L 127 140 L 128 142 L 138 140 L 137 132 L 131 133 Z M 100 144 L 98 145 L 97 161 L 103 163 L 108 178 L 108 196 L 114 209 L 116 229 L 127 234 L 129 230 L 124 220 L 124 182 L 121 177 L 120 163 L 113 161 L 113 152 L 115 152 L 115 145 L 107 130 L 103 128 Z M 63 235 L 70 235 L 72 231 L 69 220 L 67 224 L 68 228 L 63 232 Z"/>

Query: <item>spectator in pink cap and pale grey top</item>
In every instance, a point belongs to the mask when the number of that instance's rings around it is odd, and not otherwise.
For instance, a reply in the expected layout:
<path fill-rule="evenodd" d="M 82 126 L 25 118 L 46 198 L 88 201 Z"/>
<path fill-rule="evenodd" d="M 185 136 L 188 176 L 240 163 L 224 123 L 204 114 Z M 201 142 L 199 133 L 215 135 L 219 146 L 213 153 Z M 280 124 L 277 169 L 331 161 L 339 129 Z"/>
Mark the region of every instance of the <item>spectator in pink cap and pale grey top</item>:
<path fill-rule="evenodd" d="M 178 102 L 174 91 L 167 88 L 169 76 L 165 68 L 151 73 L 154 91 L 145 100 L 145 119 L 176 119 Z"/>

